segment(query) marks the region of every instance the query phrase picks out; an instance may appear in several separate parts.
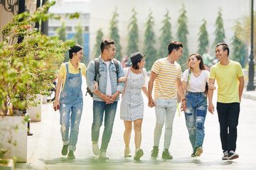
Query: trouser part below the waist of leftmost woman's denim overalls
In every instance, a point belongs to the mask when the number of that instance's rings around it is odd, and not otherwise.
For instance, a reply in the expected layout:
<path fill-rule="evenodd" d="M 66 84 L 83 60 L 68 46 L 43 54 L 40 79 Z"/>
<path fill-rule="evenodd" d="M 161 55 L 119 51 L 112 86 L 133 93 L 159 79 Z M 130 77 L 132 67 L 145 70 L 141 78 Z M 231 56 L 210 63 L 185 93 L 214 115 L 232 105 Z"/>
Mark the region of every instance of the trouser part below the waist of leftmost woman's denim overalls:
<path fill-rule="evenodd" d="M 63 145 L 68 145 L 68 149 L 75 151 L 78 142 L 79 125 L 82 115 L 82 93 L 80 95 L 60 94 L 60 132 Z M 68 137 L 70 129 L 70 139 Z"/>

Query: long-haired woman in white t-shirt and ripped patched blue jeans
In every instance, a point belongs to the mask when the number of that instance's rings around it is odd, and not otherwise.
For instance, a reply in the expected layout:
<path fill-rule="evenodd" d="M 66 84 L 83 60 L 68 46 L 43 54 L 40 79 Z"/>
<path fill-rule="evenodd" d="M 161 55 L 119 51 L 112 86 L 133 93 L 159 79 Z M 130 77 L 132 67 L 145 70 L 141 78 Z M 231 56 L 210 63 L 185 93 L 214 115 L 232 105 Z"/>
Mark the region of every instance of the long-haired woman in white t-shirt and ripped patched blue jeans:
<path fill-rule="evenodd" d="M 201 55 L 191 54 L 188 58 L 188 68 L 183 74 L 183 91 L 186 94 L 186 127 L 189 140 L 193 147 L 191 157 L 200 157 L 203 153 L 204 123 L 207 113 L 208 88 L 215 86 L 209 84 L 209 72 L 206 70 Z"/>

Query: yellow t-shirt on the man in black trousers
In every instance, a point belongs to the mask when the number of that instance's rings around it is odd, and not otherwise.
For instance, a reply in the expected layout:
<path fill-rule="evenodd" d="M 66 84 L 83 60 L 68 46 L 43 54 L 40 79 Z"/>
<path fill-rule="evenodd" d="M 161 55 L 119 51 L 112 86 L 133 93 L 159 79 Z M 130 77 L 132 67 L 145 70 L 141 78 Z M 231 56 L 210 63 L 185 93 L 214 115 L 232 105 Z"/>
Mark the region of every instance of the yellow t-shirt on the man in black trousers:
<path fill-rule="evenodd" d="M 222 65 L 220 62 L 210 68 L 209 79 L 216 79 L 218 84 L 218 98 L 220 103 L 240 103 L 239 100 L 239 81 L 242 77 L 242 67 L 239 62 L 230 60 L 228 65 Z"/>

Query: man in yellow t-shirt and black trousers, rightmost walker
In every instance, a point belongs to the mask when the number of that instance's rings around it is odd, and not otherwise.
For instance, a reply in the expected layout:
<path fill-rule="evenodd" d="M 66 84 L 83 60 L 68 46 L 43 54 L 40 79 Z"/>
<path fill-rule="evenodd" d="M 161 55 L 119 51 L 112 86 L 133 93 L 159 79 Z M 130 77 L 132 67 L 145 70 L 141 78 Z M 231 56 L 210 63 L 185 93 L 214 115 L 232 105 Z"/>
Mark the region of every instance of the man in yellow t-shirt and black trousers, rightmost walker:
<path fill-rule="evenodd" d="M 220 62 L 210 69 L 209 84 L 218 84 L 217 111 L 220 123 L 220 140 L 223 149 L 223 160 L 237 159 L 235 153 L 238 137 L 238 118 L 240 113 L 240 101 L 244 88 L 244 76 L 242 67 L 238 62 L 228 60 L 229 47 L 225 43 L 218 43 L 215 50 Z M 213 114 L 213 90 L 208 91 L 208 111 Z"/>

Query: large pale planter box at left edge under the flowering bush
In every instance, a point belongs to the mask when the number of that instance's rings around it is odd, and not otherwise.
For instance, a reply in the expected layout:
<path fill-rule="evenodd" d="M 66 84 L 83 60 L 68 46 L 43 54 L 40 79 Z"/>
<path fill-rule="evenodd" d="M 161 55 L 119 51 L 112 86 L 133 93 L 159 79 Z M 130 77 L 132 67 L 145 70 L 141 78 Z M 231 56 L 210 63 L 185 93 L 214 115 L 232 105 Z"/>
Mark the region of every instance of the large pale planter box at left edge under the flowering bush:
<path fill-rule="evenodd" d="M 23 123 L 23 119 L 23 116 L 0 117 L 0 144 L 1 149 L 7 149 L 5 159 L 16 157 L 16 162 L 26 162 L 28 123 Z"/>

